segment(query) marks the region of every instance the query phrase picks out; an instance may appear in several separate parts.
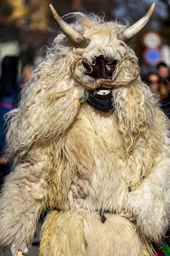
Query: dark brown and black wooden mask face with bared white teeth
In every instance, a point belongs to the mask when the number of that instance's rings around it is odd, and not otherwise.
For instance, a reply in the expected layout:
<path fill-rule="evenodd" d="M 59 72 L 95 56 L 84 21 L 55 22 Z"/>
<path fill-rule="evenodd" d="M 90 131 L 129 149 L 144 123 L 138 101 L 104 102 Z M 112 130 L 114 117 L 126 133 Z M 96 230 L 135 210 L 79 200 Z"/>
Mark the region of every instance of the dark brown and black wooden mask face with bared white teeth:
<path fill-rule="evenodd" d="M 90 65 L 83 62 L 83 66 L 85 67 L 85 75 L 91 76 L 95 80 L 109 79 L 116 69 L 116 61 L 100 55 Z M 95 90 L 95 93 L 94 91 L 89 91 L 86 102 L 99 111 L 110 112 L 113 110 L 112 90 L 106 90 L 106 88 L 100 87 Z"/>

